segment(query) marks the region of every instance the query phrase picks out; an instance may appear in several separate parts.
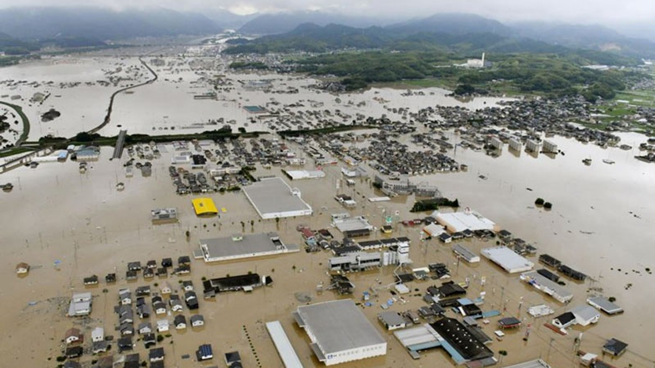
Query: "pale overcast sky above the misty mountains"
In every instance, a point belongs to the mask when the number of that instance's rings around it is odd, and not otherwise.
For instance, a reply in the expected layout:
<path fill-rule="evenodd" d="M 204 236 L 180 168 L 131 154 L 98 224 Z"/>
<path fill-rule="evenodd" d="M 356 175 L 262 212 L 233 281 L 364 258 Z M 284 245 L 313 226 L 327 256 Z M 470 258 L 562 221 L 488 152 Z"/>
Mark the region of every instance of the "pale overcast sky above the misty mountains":
<path fill-rule="evenodd" d="M 175 10 L 229 9 L 248 14 L 330 10 L 352 15 L 414 17 L 470 12 L 500 21 L 549 20 L 581 24 L 653 22 L 655 0 L 0 0 L 0 7 L 98 5 L 113 9 L 160 6 Z M 138 4 L 138 5 L 137 5 Z"/>

